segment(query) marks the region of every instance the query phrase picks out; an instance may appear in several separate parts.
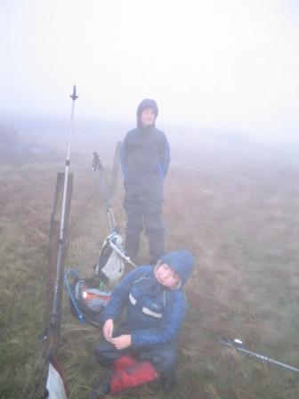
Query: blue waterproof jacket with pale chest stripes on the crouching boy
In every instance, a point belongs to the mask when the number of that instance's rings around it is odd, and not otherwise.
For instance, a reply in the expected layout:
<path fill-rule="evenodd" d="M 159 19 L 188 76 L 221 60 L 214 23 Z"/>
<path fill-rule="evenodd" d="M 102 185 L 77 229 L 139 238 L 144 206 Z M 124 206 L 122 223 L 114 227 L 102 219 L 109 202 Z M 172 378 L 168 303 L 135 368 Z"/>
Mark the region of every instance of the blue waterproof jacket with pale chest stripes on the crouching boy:
<path fill-rule="evenodd" d="M 159 284 L 154 266 L 138 267 L 117 285 L 103 315 L 103 322 L 116 321 L 127 307 L 125 327 L 131 331 L 133 347 L 174 341 L 187 313 L 182 285 L 190 275 L 194 257 L 183 249 L 162 256 L 161 261 L 181 276 L 180 287 L 168 289 Z"/>

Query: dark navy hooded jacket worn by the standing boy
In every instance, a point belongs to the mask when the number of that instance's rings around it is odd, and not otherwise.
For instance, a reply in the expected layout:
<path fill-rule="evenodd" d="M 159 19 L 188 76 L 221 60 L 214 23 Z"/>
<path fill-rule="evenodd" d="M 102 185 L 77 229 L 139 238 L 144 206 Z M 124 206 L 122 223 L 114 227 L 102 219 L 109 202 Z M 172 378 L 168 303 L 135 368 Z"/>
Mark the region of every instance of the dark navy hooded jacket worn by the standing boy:
<path fill-rule="evenodd" d="M 143 100 L 137 108 L 137 128 L 125 135 L 120 153 L 125 194 L 126 199 L 163 200 L 163 181 L 170 162 L 169 143 L 155 124 L 142 126 L 141 112 L 145 108 L 151 108 L 158 116 L 157 103 Z"/>

